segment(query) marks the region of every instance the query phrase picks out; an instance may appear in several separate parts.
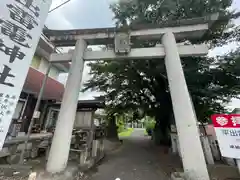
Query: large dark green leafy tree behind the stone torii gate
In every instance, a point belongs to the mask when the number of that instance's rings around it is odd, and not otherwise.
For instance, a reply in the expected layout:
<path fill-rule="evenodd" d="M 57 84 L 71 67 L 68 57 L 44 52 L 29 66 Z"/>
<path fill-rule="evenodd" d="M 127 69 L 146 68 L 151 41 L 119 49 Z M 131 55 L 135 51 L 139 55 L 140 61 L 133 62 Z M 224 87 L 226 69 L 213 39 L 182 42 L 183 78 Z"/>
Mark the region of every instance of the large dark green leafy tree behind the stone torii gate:
<path fill-rule="evenodd" d="M 239 28 L 232 20 L 239 16 L 230 11 L 231 0 L 138 0 L 111 6 L 117 27 L 131 28 L 141 24 L 219 13 L 219 20 L 198 41 L 212 48 L 239 41 Z M 157 42 L 134 41 L 133 47 L 151 47 Z M 213 113 L 225 111 L 226 103 L 240 92 L 239 49 L 216 58 L 181 58 L 184 73 L 199 121 L 208 121 Z M 173 122 L 171 97 L 163 59 L 98 61 L 90 63 L 92 78 L 85 89 L 105 92 L 109 107 L 115 112 L 137 111 L 155 117 L 158 142 L 169 143 L 169 125 Z"/>

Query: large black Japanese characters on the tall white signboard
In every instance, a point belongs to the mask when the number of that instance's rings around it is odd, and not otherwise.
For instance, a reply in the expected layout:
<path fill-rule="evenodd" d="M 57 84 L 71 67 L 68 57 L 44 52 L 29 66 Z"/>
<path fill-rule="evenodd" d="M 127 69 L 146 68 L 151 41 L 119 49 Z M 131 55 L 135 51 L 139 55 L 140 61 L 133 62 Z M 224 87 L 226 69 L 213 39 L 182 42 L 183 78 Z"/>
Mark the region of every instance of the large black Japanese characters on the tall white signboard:
<path fill-rule="evenodd" d="M 0 19 L 1 33 L 8 36 L 15 44 L 13 47 L 5 45 L 0 39 L 0 51 L 9 56 L 9 63 L 14 63 L 16 59 L 23 60 L 25 57 L 23 48 L 31 48 L 28 43 L 32 39 L 31 29 L 38 26 L 39 7 L 34 6 L 33 0 L 15 0 L 14 4 L 7 4 L 10 20 Z M 30 10 L 30 11 L 29 11 Z M 31 14 L 29 13 L 31 12 Z M 14 84 L 7 82 L 8 78 L 15 78 L 9 65 L 3 65 L 0 73 L 0 84 L 14 87 Z"/>

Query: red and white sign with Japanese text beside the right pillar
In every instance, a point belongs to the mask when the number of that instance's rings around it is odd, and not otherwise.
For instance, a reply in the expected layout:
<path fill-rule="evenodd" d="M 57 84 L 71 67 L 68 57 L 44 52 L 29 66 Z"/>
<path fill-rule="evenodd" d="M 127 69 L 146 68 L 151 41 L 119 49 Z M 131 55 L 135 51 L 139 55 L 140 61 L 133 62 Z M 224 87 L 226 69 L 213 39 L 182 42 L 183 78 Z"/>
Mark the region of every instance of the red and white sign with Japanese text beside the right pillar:
<path fill-rule="evenodd" d="M 240 114 L 211 116 L 222 156 L 240 159 Z"/>

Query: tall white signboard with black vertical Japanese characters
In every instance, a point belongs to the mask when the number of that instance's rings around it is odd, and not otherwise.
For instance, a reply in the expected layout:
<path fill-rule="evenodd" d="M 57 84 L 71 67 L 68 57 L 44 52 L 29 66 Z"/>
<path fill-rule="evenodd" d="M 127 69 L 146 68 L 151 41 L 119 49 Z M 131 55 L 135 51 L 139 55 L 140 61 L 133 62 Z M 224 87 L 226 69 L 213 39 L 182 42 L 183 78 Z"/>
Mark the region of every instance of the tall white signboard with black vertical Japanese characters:
<path fill-rule="evenodd" d="M 0 150 L 52 0 L 0 0 Z"/>

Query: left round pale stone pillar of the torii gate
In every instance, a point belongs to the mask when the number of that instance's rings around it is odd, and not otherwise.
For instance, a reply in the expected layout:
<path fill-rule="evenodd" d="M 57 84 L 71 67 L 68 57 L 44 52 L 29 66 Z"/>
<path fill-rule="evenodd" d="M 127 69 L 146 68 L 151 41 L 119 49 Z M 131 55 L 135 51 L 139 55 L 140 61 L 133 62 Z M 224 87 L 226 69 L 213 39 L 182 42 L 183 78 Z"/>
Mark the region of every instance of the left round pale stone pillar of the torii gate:
<path fill-rule="evenodd" d="M 62 172 L 67 167 L 72 130 L 76 116 L 79 90 L 84 67 L 83 57 L 86 48 L 87 45 L 83 39 L 77 41 L 50 153 L 48 156 L 46 170 L 50 173 Z"/>

